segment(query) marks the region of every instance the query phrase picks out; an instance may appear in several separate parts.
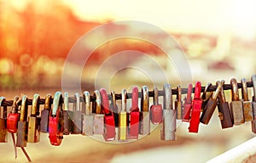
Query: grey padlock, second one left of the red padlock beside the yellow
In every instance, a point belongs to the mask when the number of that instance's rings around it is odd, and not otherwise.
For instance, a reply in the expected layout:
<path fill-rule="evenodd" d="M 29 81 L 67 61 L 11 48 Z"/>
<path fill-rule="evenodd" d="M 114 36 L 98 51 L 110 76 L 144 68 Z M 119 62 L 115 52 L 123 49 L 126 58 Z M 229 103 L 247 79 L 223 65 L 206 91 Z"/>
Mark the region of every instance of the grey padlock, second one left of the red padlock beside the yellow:
<path fill-rule="evenodd" d="M 84 103 L 85 103 L 85 113 L 83 118 L 83 135 L 92 136 L 93 126 L 94 126 L 94 115 L 92 115 L 92 110 L 90 107 L 90 93 L 84 91 Z"/>

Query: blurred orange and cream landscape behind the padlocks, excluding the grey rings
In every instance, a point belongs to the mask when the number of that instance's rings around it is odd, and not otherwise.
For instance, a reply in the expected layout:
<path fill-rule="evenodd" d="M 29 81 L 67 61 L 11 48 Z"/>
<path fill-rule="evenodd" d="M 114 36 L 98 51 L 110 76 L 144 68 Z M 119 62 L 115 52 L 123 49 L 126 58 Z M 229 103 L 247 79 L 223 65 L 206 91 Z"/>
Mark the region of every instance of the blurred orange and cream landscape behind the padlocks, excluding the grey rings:
<path fill-rule="evenodd" d="M 204 86 L 207 82 L 215 84 L 220 79 L 229 83 L 233 76 L 238 81 L 241 77 L 249 81 L 256 71 L 255 6 L 253 0 L 0 0 L 1 96 L 12 99 L 20 93 L 29 97 L 39 93 L 44 97 L 46 93 L 54 94 L 61 90 L 62 68 L 74 43 L 98 25 L 116 20 L 139 20 L 168 32 L 183 48 L 194 83 L 201 81 Z M 129 26 L 117 25 L 111 28 L 115 31 L 126 29 Z M 112 31 L 99 33 L 98 37 L 107 37 L 109 32 Z M 141 35 L 165 40 L 164 36 L 146 29 Z M 92 43 L 96 42 L 94 39 Z M 83 90 L 92 93 L 99 67 L 108 57 L 124 50 L 147 53 L 160 63 L 172 86 L 180 82 L 175 65 L 166 62 L 166 56 L 159 48 L 150 42 L 123 39 L 107 42 L 90 55 L 82 74 Z M 154 66 L 150 69 L 150 64 L 148 66 L 143 57 L 129 62 L 134 67 L 142 65 L 155 75 L 158 74 Z M 73 65 L 73 70 L 75 68 Z M 108 69 L 114 69 L 114 65 L 108 66 Z M 108 69 L 104 70 L 106 76 Z M 154 84 L 161 89 L 164 82 L 160 79 Z M 153 89 L 147 75 L 131 68 L 119 70 L 110 81 L 110 87 L 117 93 L 122 88 L 131 92 L 131 86 L 134 85 L 148 85 Z M 186 86 L 187 83 L 183 85 Z M 230 100 L 230 94 L 226 94 Z M 250 123 L 221 130 L 217 111 L 208 126 L 200 126 L 198 134 L 188 133 L 187 127 L 188 124 L 180 124 L 177 141 L 167 143 L 160 141 L 160 128 L 156 128 L 146 138 L 125 144 L 68 136 L 61 147 L 51 147 L 47 134 L 41 134 L 41 142 L 29 144 L 27 150 L 35 162 L 205 162 L 254 137 Z M 9 143 L 0 144 L 1 162 L 14 161 L 10 142 L 9 138 Z M 18 161 L 26 161 L 21 153 Z"/>

